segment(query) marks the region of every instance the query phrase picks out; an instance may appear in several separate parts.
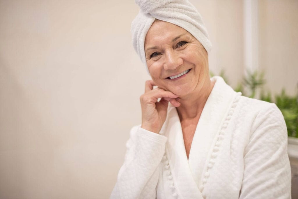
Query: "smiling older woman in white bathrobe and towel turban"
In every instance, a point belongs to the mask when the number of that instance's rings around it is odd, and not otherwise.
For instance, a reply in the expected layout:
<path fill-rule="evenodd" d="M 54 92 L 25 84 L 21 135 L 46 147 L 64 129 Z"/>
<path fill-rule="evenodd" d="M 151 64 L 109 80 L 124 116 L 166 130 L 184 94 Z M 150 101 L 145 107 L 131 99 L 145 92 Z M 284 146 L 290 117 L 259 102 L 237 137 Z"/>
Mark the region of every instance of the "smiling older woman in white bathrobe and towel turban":
<path fill-rule="evenodd" d="M 133 43 L 152 80 L 111 198 L 290 198 L 280 110 L 209 78 L 211 43 L 188 1 L 136 2 Z"/>

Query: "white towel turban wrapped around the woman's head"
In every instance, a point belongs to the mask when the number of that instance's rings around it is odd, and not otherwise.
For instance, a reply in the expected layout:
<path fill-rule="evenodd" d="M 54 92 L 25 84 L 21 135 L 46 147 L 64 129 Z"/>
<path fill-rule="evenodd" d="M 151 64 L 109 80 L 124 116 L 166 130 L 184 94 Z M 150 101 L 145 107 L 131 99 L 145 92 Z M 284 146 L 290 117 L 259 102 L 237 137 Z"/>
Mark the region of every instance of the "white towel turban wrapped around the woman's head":
<path fill-rule="evenodd" d="M 146 64 L 145 37 L 155 19 L 167 21 L 187 30 L 210 52 L 211 42 L 200 13 L 187 0 L 135 0 L 140 7 L 132 21 L 131 32 L 133 46 L 142 62 Z M 149 73 L 149 71 L 148 71 Z"/>

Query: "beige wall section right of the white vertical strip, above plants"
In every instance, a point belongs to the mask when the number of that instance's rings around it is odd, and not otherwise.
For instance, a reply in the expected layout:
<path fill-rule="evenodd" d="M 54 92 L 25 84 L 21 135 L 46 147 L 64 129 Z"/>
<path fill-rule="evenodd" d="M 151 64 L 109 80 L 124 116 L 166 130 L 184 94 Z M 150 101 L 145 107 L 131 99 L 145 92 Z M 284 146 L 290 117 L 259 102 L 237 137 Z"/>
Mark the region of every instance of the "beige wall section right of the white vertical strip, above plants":
<path fill-rule="evenodd" d="M 297 94 L 298 1 L 263 0 L 259 4 L 259 64 L 265 71 L 266 89 L 285 88 Z"/>

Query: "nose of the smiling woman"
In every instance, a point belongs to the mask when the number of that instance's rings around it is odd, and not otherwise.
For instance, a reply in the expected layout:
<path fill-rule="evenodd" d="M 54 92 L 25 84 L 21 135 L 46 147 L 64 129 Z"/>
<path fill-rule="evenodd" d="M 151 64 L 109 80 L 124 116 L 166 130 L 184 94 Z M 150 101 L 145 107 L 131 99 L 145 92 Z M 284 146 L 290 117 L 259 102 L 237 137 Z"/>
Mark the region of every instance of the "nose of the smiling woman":
<path fill-rule="evenodd" d="M 183 59 L 173 49 L 165 51 L 164 70 L 175 70 L 183 64 Z"/>

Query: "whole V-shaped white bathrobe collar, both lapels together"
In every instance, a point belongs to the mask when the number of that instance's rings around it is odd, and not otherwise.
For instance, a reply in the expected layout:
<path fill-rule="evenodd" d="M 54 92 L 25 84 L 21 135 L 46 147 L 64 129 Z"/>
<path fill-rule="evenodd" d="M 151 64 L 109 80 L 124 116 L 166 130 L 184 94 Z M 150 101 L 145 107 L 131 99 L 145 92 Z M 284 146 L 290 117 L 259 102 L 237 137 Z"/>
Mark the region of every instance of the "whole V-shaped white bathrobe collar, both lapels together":
<path fill-rule="evenodd" d="M 199 190 L 202 173 L 207 166 L 212 147 L 236 92 L 221 77 L 216 82 L 198 121 L 187 160 L 181 123 L 176 108 L 169 104 L 167 120 L 161 134 L 168 137 L 167 159 L 178 195 L 183 198 L 203 198 Z M 213 79 L 212 78 L 212 79 Z"/>

